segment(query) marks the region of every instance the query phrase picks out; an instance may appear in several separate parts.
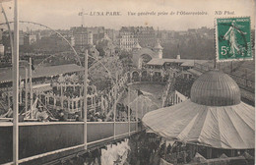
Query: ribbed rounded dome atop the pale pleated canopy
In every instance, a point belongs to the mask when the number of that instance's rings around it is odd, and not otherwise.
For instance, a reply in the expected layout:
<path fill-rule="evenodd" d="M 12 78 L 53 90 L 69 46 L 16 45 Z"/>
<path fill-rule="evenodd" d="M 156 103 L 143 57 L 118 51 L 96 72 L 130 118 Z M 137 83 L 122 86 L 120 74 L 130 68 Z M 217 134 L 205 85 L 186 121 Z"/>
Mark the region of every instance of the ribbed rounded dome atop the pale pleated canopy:
<path fill-rule="evenodd" d="M 207 106 L 228 106 L 241 102 L 240 89 L 228 75 L 218 70 L 200 76 L 191 87 L 191 101 Z"/>

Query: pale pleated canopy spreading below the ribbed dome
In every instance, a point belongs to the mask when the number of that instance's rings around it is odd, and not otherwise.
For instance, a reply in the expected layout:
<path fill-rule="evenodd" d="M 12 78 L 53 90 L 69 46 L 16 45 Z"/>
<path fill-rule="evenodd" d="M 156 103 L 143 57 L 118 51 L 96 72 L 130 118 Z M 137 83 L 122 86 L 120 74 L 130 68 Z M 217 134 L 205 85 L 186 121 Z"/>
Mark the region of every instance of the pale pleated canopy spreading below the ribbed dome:
<path fill-rule="evenodd" d="M 216 148 L 254 148 L 254 107 L 205 106 L 186 100 L 147 113 L 144 125 L 169 140 L 200 143 Z"/>

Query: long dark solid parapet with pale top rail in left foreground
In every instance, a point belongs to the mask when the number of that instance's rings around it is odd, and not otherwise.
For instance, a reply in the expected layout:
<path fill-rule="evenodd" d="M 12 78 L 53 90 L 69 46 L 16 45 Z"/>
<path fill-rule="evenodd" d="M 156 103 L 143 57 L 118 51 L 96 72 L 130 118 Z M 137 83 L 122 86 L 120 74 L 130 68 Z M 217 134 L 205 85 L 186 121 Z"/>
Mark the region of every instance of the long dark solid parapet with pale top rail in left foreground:
<path fill-rule="evenodd" d="M 136 122 L 88 122 L 88 148 L 136 133 Z M 84 122 L 47 122 L 19 124 L 19 162 L 75 148 L 83 149 Z M 115 128 L 115 132 L 114 132 Z M 0 123 L 0 164 L 12 161 L 13 124 Z M 115 135 L 114 135 L 115 133 Z"/>

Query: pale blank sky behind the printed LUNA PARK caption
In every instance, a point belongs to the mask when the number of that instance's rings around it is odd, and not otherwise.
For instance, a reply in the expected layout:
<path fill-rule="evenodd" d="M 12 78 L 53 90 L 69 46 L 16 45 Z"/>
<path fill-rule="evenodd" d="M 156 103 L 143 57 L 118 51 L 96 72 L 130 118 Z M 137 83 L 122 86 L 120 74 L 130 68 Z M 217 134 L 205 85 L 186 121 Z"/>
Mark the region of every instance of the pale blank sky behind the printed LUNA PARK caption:
<path fill-rule="evenodd" d="M 167 30 L 214 27 L 215 18 L 250 16 L 255 24 L 254 0 L 18 0 L 20 20 L 39 23 L 54 29 L 69 29 L 82 25 L 79 12 L 83 9 L 85 27 L 154 27 Z M 9 21 L 13 20 L 14 2 L 3 3 Z M 202 12 L 206 15 L 177 15 L 177 12 Z M 222 15 L 215 15 L 222 11 Z M 228 11 L 230 15 L 224 15 Z M 104 16 L 90 16 L 100 12 Z M 119 12 L 121 16 L 105 16 Z M 136 16 L 128 16 L 128 12 Z M 168 13 L 164 16 L 138 16 L 141 12 Z M 173 12 L 173 15 L 170 13 Z M 226 12 L 227 13 L 227 12 Z M 232 15 L 231 15 L 232 14 Z M 4 23 L 1 14 L 0 22 Z"/>

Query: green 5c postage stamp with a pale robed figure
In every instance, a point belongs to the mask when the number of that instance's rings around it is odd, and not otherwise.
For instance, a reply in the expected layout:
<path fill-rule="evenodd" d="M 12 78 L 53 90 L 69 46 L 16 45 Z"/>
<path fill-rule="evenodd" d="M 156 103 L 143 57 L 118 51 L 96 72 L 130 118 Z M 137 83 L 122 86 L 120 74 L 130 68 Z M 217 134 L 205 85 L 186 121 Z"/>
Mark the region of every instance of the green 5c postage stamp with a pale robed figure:
<path fill-rule="evenodd" d="M 251 60 L 250 18 L 216 20 L 217 61 Z"/>

